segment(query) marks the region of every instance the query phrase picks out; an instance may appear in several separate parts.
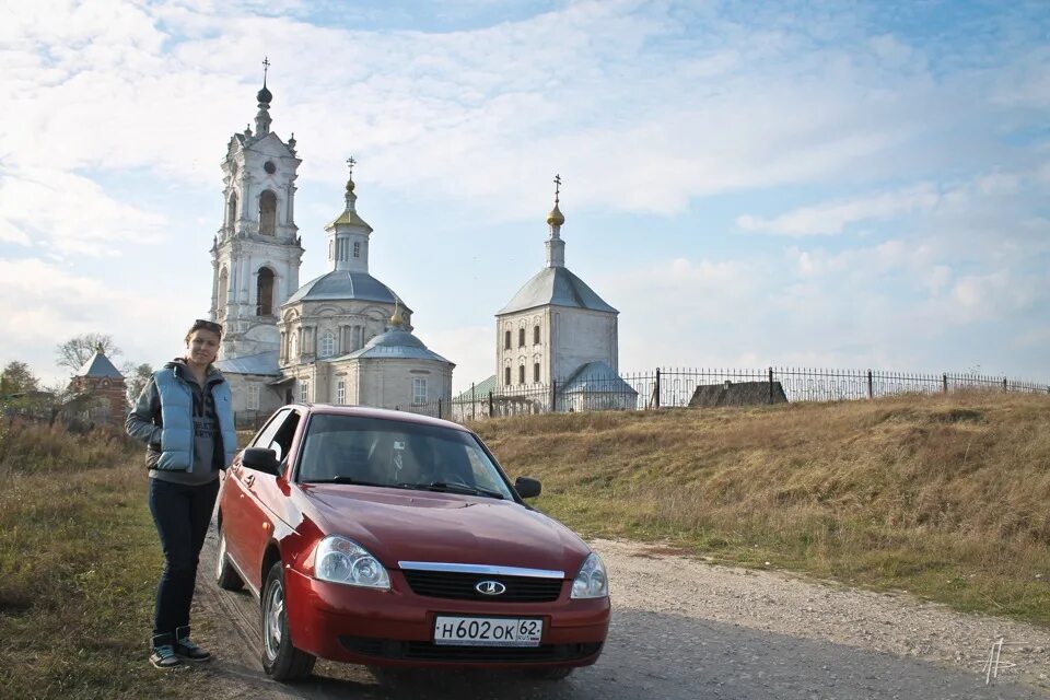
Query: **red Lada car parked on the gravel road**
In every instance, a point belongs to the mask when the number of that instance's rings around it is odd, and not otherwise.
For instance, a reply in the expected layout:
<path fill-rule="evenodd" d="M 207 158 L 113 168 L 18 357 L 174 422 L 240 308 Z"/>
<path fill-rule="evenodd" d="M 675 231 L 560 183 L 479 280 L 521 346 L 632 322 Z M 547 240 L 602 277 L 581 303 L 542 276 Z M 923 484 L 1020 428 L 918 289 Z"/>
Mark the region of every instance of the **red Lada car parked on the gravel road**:
<path fill-rule="evenodd" d="M 259 598 L 278 680 L 318 656 L 561 678 L 602 653 L 608 581 L 539 492 L 456 423 L 285 406 L 226 470 L 215 579 Z"/>

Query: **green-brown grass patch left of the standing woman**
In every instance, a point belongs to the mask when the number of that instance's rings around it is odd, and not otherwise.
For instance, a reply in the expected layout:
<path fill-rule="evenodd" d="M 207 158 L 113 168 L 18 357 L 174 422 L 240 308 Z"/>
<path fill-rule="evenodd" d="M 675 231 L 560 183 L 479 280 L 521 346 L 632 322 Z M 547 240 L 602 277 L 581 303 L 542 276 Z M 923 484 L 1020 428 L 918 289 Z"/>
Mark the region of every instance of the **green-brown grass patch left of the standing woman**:
<path fill-rule="evenodd" d="M 147 662 L 163 557 L 141 448 L 0 419 L 0 698 L 192 697 Z"/>

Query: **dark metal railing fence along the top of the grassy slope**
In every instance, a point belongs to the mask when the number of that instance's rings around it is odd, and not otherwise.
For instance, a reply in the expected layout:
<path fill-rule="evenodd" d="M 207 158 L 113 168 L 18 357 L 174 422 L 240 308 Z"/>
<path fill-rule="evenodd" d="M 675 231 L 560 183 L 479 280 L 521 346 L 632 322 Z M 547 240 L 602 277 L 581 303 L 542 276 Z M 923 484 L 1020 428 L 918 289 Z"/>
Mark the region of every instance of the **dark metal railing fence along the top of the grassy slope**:
<path fill-rule="evenodd" d="M 478 393 L 468 390 L 452 399 L 447 409 L 428 415 L 456 421 L 490 417 L 588 410 L 645 410 L 686 407 L 697 387 L 749 383 L 758 388 L 752 402 L 772 402 L 783 389 L 786 399 L 797 401 L 841 401 L 879 398 L 899 394 L 947 394 L 959 390 L 985 390 L 1050 394 L 1050 385 L 1004 376 L 970 373 L 915 374 L 880 370 L 817 370 L 765 368 L 760 370 L 658 368 L 652 372 L 626 373 L 591 378 L 585 385 L 560 382 L 498 387 Z M 767 387 L 762 393 L 761 387 Z M 409 409 L 413 410 L 413 409 Z M 447 411 L 447 412 L 446 412 Z M 424 411 L 417 411 L 424 412 Z"/>

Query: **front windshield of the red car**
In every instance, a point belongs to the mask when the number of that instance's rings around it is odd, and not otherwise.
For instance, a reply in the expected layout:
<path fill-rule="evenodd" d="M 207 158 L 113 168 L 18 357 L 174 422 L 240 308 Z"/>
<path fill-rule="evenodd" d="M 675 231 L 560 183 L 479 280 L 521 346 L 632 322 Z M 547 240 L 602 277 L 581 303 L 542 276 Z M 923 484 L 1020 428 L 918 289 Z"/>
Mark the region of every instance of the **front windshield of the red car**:
<path fill-rule="evenodd" d="M 299 480 L 512 499 L 495 465 L 470 433 L 358 416 L 312 417 Z"/>

